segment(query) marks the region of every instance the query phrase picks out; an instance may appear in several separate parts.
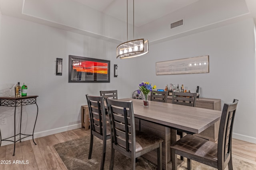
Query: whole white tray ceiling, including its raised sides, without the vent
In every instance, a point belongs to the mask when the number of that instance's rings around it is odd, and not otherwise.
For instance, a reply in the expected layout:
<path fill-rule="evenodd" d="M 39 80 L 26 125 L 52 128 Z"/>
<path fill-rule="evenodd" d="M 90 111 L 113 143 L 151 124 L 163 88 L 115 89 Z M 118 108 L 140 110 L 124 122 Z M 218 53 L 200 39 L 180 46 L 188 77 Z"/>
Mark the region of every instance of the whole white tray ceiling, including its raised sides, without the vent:
<path fill-rule="evenodd" d="M 115 43 L 126 40 L 124 31 L 120 31 L 126 29 L 126 7 L 126 0 L 0 0 L 2 15 Z M 186 16 L 185 26 L 170 30 L 170 23 L 182 16 Z M 133 0 L 128 0 L 130 24 L 132 17 Z M 134 26 L 137 31 L 143 30 L 140 33 L 151 42 L 167 41 L 244 18 L 254 18 L 256 22 L 256 0 L 134 0 Z"/>

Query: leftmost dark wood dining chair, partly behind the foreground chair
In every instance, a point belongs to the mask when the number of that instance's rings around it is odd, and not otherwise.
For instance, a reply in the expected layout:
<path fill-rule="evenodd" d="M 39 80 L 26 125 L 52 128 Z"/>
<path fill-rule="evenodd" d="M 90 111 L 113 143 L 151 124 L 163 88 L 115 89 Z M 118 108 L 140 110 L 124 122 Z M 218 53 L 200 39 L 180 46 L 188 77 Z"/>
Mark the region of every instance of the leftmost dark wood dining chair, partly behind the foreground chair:
<path fill-rule="evenodd" d="M 105 156 L 106 156 L 106 140 L 110 139 L 110 131 L 106 125 L 106 111 L 104 107 L 104 99 L 103 99 L 103 96 L 99 96 L 99 97 L 89 96 L 88 94 L 86 95 L 86 99 L 87 99 L 88 108 L 89 108 L 90 129 L 91 129 L 90 149 L 89 149 L 88 159 L 92 157 L 93 137 L 96 136 L 103 141 L 102 157 L 101 157 L 101 165 L 100 165 L 100 170 L 103 170 Z"/>

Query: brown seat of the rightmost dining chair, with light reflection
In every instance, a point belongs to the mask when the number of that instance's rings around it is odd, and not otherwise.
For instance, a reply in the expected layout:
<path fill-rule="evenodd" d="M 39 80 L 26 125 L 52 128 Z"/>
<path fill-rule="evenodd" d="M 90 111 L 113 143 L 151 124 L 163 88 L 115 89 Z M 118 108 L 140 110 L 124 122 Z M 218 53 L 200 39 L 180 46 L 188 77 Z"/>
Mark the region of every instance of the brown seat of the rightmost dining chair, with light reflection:
<path fill-rule="evenodd" d="M 188 155 L 193 155 L 193 157 L 198 156 L 202 159 L 217 162 L 218 144 L 197 136 L 186 135 L 173 143 L 171 148 L 186 152 Z"/>

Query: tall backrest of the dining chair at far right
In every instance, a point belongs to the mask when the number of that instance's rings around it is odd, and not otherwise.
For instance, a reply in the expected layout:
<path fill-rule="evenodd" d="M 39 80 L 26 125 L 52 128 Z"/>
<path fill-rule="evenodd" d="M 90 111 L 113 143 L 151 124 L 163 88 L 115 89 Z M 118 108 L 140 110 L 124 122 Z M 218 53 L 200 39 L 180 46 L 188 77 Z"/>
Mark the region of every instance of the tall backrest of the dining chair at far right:
<path fill-rule="evenodd" d="M 218 165 L 226 166 L 231 158 L 232 131 L 238 100 L 224 104 L 218 134 Z"/>

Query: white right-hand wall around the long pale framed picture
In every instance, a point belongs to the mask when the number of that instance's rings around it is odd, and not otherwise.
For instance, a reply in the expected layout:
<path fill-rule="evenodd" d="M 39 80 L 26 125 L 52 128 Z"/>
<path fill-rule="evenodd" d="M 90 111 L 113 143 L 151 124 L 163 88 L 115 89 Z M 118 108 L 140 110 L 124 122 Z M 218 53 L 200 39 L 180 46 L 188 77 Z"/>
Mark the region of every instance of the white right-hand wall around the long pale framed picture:
<path fill-rule="evenodd" d="M 233 137 L 256 143 L 253 19 L 150 45 L 149 50 L 147 57 L 137 59 L 143 66 L 138 79 L 150 81 L 160 89 L 179 83 L 195 92 L 200 86 L 201 97 L 221 99 L 222 107 L 238 99 Z M 202 55 L 209 55 L 209 73 L 156 76 L 156 62 Z"/>

